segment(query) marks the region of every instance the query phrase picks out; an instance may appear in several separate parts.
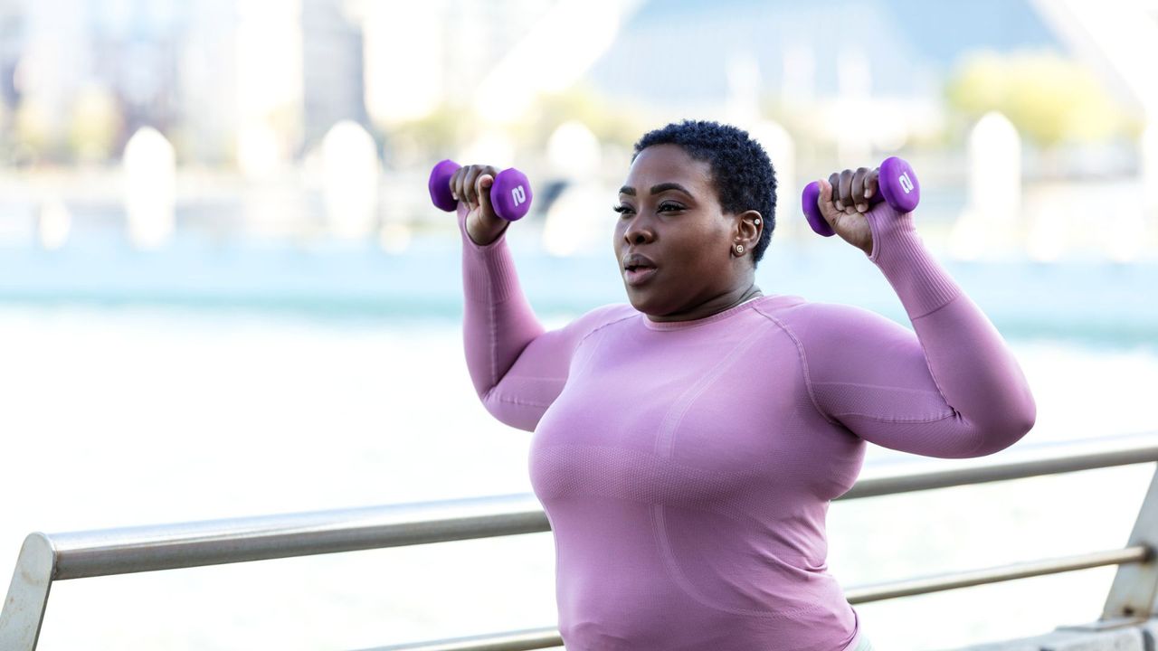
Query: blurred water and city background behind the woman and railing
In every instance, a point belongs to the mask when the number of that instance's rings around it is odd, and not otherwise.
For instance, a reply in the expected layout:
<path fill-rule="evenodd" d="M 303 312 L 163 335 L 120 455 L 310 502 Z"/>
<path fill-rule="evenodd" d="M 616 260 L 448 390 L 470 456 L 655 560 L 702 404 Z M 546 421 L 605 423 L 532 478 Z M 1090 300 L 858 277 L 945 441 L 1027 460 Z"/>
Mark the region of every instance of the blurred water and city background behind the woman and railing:
<path fill-rule="evenodd" d="M 614 192 L 635 138 L 680 117 L 772 154 L 765 293 L 904 323 L 797 204 L 903 155 L 922 235 L 1033 386 L 1019 445 L 1153 431 L 1155 3 L 799 5 L 0 0 L 0 568 L 37 529 L 529 491 L 529 434 L 467 376 L 426 174 L 528 173 L 510 239 L 557 326 L 623 300 Z M 856 586 L 1120 547 L 1151 470 L 838 503 L 830 568 Z M 944 649 L 1092 621 L 1112 576 L 858 612 L 881 649 Z M 535 534 L 64 581 L 41 648 L 359 649 L 555 616 Z"/>

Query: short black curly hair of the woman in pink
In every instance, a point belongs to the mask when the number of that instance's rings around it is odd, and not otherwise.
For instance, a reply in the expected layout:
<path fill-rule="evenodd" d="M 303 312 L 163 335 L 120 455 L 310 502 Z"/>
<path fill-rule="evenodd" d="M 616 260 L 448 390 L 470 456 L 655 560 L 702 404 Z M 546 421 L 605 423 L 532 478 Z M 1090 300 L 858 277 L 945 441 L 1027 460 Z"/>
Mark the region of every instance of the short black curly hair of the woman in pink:
<path fill-rule="evenodd" d="M 654 145 L 675 145 L 692 159 L 706 162 L 725 212 L 760 212 L 764 228 L 752 251 L 753 264 L 758 263 L 776 228 L 776 170 L 760 142 L 728 124 L 686 119 L 645 133 L 636 142 L 631 160 Z"/>

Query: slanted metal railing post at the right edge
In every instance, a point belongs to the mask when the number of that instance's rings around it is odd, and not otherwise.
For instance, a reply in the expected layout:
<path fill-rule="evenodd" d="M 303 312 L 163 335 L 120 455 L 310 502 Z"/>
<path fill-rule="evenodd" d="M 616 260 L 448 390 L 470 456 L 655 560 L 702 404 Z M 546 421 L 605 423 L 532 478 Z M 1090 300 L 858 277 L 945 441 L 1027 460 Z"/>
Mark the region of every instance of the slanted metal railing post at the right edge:
<path fill-rule="evenodd" d="M 1119 565 L 1117 575 L 1109 587 L 1102 620 L 1145 619 L 1153 614 L 1155 595 L 1158 594 L 1158 562 L 1153 551 L 1158 549 L 1158 468 L 1150 480 L 1150 489 L 1134 521 L 1129 546 L 1145 546 L 1151 555 L 1144 563 Z"/>

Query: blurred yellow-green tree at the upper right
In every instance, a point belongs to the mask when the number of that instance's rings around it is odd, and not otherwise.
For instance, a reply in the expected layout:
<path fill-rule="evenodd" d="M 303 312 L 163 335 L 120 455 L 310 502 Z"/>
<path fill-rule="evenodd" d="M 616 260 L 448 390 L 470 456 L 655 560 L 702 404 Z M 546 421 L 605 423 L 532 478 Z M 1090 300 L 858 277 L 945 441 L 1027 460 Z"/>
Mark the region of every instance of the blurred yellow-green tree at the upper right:
<path fill-rule="evenodd" d="M 1090 71 L 1051 52 L 969 56 L 950 76 L 946 96 L 970 119 L 1001 111 L 1046 148 L 1136 136 L 1138 125 Z"/>

